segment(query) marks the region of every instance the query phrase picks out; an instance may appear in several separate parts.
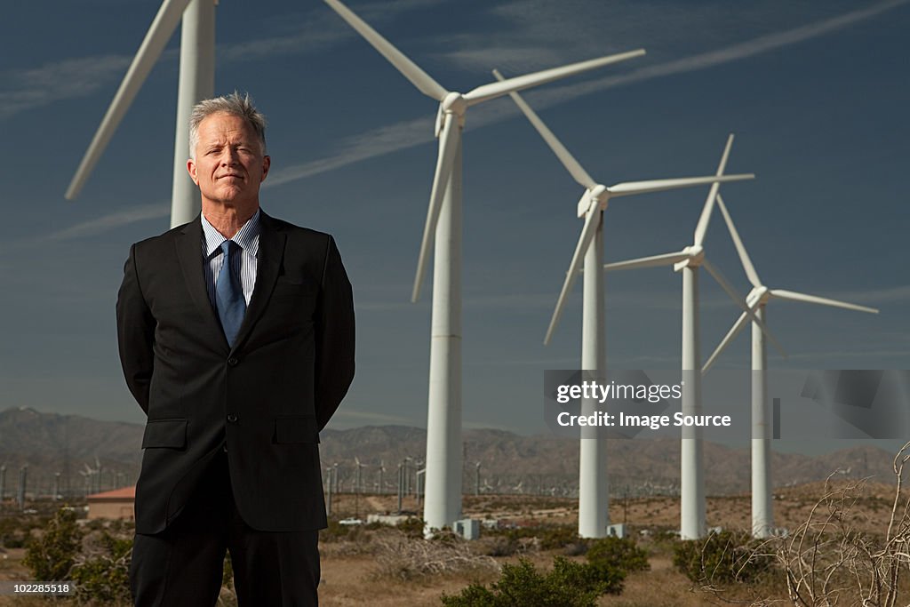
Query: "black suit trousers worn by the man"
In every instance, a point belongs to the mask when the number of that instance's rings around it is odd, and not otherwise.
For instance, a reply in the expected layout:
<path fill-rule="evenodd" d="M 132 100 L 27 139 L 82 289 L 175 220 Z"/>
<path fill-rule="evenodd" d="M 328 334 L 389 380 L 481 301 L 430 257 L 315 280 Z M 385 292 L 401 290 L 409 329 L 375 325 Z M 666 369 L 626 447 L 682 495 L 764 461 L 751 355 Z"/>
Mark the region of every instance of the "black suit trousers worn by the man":
<path fill-rule="evenodd" d="M 241 607 L 319 603 L 319 531 L 257 531 L 237 511 L 227 453 L 209 464 L 165 531 L 136 534 L 129 582 L 136 607 L 217 602 L 226 551 Z"/>

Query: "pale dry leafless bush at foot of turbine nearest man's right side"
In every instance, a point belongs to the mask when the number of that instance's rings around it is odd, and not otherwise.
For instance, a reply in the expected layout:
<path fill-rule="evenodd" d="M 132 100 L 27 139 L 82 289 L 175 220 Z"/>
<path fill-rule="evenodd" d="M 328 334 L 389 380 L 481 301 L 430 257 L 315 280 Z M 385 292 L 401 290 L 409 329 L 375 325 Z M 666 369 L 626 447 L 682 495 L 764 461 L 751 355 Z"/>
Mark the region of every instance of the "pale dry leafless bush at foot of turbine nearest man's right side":
<path fill-rule="evenodd" d="M 468 542 L 413 539 L 400 531 L 374 538 L 374 576 L 408 581 L 416 578 L 465 572 L 499 572 L 495 559 L 470 550 Z"/>

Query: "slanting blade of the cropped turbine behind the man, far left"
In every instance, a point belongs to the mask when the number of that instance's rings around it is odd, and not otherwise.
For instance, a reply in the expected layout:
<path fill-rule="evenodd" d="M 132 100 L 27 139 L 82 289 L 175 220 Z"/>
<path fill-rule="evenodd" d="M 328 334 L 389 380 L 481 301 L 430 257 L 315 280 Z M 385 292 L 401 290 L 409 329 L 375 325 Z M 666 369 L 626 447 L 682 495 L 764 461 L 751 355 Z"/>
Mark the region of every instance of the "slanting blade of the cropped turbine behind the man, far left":
<path fill-rule="evenodd" d="M 79 196 L 82 187 L 86 185 L 88 176 L 91 175 L 92 169 L 95 168 L 111 137 L 114 136 L 116 127 L 123 120 L 123 116 L 126 116 L 126 110 L 133 103 L 133 99 L 136 98 L 136 94 L 145 83 L 148 73 L 155 66 L 158 57 L 161 56 L 167 41 L 170 40 L 174 30 L 177 29 L 177 24 L 180 23 L 183 11 L 187 8 L 189 2 L 190 0 L 164 0 L 161 3 L 152 25 L 148 28 L 146 37 L 139 46 L 139 50 L 136 51 L 136 56 L 133 57 L 133 63 L 129 65 L 123 82 L 120 83 L 120 87 L 116 90 L 114 100 L 111 101 L 111 105 L 107 108 L 105 117 L 101 119 L 101 126 L 98 126 L 95 137 L 92 138 L 92 143 L 88 145 L 86 155 L 82 157 L 79 167 L 76 168 L 73 180 L 69 182 L 69 187 L 66 188 L 64 197 L 67 200 L 72 200 Z"/>

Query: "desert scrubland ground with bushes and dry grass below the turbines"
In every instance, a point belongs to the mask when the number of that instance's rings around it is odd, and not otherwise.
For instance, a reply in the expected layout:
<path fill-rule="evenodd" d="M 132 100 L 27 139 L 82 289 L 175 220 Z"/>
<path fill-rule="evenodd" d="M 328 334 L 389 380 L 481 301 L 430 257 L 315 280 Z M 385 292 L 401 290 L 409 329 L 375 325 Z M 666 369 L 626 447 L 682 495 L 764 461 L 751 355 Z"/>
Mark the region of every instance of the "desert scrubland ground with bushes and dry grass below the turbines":
<path fill-rule="evenodd" d="M 825 481 L 777 491 L 775 518 L 787 530 L 756 541 L 749 497 L 708 502 L 723 531 L 699 541 L 675 533 L 678 499 L 649 496 L 612 503 L 625 539 L 583 540 L 570 499 L 466 496 L 465 511 L 493 521 L 480 539 L 450 531 L 424 539 L 416 516 L 398 527 L 341 524 L 364 503 L 390 510 L 390 496 L 339 495 L 320 533 L 324 605 L 608 605 L 704 604 L 795 607 L 895 607 L 910 602 L 910 494 L 905 446 L 893 482 Z M 419 511 L 416 504 L 406 504 Z M 126 605 L 133 529 L 121 521 L 79 520 L 79 508 L 39 504 L 34 513 L 0 517 L 0 580 L 68 580 L 77 595 L 60 602 Z M 349 521 L 347 521 L 349 522 Z M 229 559 L 219 604 L 235 605 Z M 0 597 L 0 604 L 46 599 Z"/>

